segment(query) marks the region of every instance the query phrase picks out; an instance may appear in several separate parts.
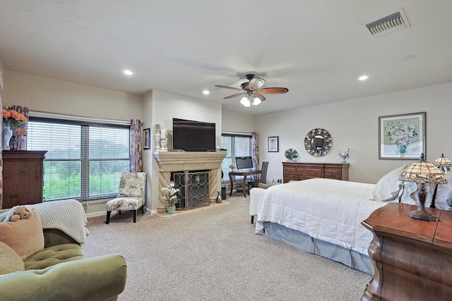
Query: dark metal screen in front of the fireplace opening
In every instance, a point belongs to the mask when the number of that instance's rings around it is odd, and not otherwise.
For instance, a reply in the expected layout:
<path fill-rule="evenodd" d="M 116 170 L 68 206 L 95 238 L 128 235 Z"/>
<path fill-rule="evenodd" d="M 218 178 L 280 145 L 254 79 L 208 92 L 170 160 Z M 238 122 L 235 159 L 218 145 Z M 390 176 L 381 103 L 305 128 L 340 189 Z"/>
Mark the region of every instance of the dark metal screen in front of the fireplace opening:
<path fill-rule="evenodd" d="M 179 188 L 177 209 L 188 210 L 210 204 L 208 171 L 173 173 L 173 179 Z"/>

